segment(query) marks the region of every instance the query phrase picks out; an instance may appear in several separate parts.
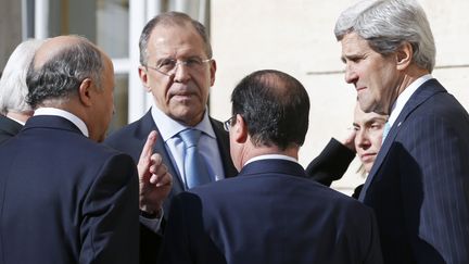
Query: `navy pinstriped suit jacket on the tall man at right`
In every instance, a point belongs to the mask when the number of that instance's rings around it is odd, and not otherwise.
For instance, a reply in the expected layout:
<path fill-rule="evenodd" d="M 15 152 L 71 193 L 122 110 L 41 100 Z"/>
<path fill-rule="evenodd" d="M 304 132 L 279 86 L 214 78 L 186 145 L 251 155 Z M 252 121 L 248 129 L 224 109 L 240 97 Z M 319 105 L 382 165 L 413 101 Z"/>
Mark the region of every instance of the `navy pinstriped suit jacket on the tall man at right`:
<path fill-rule="evenodd" d="M 469 263 L 469 115 L 435 79 L 391 127 L 360 200 L 385 263 Z"/>

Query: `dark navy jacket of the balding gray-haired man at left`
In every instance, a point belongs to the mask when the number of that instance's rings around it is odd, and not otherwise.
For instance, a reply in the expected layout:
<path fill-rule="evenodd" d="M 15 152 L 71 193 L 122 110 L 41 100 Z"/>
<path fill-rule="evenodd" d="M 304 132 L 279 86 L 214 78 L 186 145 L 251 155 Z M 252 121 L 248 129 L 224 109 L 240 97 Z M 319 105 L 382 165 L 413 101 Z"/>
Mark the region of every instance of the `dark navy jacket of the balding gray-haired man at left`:
<path fill-rule="evenodd" d="M 0 147 L 0 262 L 136 263 L 130 156 L 59 116 L 33 116 Z"/>

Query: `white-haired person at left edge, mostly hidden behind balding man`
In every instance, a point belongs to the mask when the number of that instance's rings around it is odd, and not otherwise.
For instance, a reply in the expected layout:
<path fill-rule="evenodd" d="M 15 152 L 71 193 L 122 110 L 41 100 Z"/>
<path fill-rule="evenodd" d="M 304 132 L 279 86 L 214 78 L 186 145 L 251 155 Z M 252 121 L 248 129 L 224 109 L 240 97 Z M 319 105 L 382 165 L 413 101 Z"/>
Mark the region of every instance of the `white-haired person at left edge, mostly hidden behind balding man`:
<path fill-rule="evenodd" d="M 15 136 L 33 115 L 26 103 L 26 73 L 42 40 L 28 39 L 10 55 L 0 79 L 0 143 Z"/>

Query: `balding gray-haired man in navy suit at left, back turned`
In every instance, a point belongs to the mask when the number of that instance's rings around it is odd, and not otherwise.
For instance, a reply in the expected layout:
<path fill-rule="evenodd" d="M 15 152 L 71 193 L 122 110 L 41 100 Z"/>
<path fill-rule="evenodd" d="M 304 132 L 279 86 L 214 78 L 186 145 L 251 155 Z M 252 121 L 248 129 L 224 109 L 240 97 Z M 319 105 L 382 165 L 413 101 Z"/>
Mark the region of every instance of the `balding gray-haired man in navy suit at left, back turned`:
<path fill-rule="evenodd" d="M 1 263 L 138 262 L 135 163 L 97 143 L 114 110 L 113 71 L 81 37 L 37 50 L 27 74 L 35 115 L 0 148 Z"/>

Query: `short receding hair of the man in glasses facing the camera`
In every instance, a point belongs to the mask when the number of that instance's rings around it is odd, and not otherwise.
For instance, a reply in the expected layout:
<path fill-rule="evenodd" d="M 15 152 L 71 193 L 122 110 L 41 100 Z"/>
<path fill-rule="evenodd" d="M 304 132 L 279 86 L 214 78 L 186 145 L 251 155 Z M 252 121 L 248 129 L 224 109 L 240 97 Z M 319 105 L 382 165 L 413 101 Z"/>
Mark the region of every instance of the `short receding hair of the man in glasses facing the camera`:
<path fill-rule="evenodd" d="M 155 28 L 157 25 L 183 26 L 186 25 L 186 23 L 190 23 L 195 28 L 205 45 L 206 55 L 208 58 L 212 58 L 212 46 L 210 43 L 210 38 L 205 26 L 202 25 L 199 21 L 192 20 L 189 15 L 185 13 L 173 11 L 156 15 L 155 17 L 150 20 L 143 27 L 139 40 L 140 64 L 145 66 L 148 63 L 148 42 L 153 28 Z"/>

